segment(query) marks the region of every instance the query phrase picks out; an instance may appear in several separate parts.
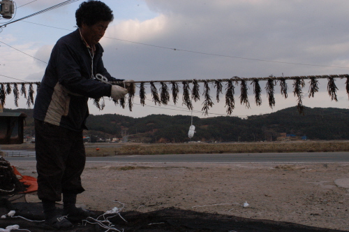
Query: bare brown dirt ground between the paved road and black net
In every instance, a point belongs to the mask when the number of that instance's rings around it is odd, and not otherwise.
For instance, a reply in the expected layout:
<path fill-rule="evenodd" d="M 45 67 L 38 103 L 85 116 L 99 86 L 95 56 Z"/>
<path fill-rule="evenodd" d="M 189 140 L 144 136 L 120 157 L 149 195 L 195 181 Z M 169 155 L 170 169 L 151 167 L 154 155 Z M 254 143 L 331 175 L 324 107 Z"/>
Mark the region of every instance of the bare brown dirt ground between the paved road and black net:
<path fill-rule="evenodd" d="M 36 177 L 35 162 L 11 164 Z M 173 207 L 349 231 L 348 163 L 87 163 L 82 183 L 77 203 L 91 210 Z"/>

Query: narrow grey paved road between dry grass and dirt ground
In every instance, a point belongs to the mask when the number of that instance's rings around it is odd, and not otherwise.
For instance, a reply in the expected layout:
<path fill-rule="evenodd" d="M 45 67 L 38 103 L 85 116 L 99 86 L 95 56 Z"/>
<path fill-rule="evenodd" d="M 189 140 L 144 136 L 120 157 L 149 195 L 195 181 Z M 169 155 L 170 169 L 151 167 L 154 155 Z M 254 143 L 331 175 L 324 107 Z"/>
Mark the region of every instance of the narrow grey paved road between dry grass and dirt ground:
<path fill-rule="evenodd" d="M 8 161 L 35 161 L 35 157 L 6 157 Z M 125 163 L 346 163 L 349 152 L 246 153 L 246 154 L 162 154 L 88 157 L 87 162 Z"/>

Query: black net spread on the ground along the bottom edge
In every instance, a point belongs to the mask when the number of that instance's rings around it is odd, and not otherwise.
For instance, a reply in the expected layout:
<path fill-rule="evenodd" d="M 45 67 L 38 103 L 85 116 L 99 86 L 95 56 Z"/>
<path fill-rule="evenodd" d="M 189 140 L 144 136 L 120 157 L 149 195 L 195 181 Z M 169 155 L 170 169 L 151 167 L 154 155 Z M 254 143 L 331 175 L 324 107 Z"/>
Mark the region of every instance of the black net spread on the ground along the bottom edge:
<path fill-rule="evenodd" d="M 61 205 L 57 205 L 61 208 Z M 25 196 L 12 196 L 0 198 L 0 216 L 6 215 L 10 210 L 15 210 L 15 216 L 22 216 L 27 219 L 43 220 L 43 209 L 40 203 L 27 203 Z M 98 215 L 103 212 L 96 212 Z M 110 215 L 108 215 L 110 217 Z M 127 222 L 124 222 L 123 217 Z M 247 219 L 229 215 L 209 214 L 194 212 L 191 210 L 180 210 L 166 208 L 154 212 L 121 212 L 121 217 L 115 215 L 110 218 L 114 228 L 119 231 L 141 231 L 141 232 L 204 232 L 204 231 L 236 231 L 236 232 L 340 232 L 338 230 L 321 229 L 312 226 L 304 226 L 289 222 L 274 222 L 270 220 Z M 83 225 L 82 221 L 73 222 L 74 229 L 67 231 L 80 232 L 107 231 L 97 224 Z M 0 219 L 0 228 L 17 224 L 20 229 L 27 229 L 31 232 L 52 231 L 43 222 L 29 222 L 22 218 L 8 217 Z M 109 230 L 115 231 L 115 230 Z M 19 232 L 19 230 L 12 230 Z"/>

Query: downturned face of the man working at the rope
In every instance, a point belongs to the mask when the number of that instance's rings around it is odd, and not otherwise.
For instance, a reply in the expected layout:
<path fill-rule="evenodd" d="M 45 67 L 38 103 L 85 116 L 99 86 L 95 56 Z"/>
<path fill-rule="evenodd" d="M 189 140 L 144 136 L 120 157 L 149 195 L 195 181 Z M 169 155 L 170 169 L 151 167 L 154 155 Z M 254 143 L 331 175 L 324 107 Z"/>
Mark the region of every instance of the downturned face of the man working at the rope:
<path fill-rule="evenodd" d="M 110 22 L 100 21 L 92 26 L 87 26 L 84 22 L 81 27 L 81 34 L 89 45 L 96 45 L 104 36 Z"/>

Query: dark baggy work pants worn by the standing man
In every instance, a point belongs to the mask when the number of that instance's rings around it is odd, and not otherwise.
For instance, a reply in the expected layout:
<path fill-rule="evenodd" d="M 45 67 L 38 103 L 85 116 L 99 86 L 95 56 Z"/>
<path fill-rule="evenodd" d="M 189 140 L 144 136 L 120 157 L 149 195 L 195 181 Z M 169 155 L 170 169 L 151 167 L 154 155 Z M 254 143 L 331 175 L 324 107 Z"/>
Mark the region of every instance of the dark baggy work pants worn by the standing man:
<path fill-rule="evenodd" d="M 80 194 L 86 161 L 82 131 L 35 119 L 38 198 L 61 201 L 61 194 Z"/>

